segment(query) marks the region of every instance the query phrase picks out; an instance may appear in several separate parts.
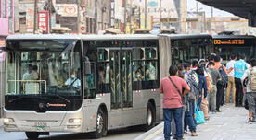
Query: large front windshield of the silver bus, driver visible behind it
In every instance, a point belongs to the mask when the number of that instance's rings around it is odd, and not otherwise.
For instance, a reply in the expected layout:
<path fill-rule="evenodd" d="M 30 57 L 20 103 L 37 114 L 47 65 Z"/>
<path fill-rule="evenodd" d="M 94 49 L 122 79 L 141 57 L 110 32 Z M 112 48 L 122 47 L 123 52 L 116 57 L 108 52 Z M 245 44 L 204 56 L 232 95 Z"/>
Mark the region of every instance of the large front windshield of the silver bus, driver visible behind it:
<path fill-rule="evenodd" d="M 6 95 L 81 96 L 76 40 L 9 40 Z"/>

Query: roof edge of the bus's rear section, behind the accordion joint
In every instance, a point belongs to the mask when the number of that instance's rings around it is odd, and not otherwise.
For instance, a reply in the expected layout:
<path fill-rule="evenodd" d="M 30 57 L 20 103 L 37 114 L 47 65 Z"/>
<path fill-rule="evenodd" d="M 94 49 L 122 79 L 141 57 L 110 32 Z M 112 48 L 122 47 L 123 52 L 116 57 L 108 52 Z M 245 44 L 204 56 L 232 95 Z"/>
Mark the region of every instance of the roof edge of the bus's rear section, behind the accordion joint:
<path fill-rule="evenodd" d="M 169 37 L 171 39 L 200 39 L 212 38 L 209 34 L 160 34 L 159 36 Z"/>

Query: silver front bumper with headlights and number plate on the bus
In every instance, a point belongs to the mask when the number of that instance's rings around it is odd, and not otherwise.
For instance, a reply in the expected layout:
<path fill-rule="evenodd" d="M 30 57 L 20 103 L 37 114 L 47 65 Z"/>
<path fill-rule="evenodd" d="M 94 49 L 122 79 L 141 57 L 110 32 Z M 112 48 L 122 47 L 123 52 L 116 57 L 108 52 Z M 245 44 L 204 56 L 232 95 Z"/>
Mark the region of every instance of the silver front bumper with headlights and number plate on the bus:
<path fill-rule="evenodd" d="M 83 132 L 82 111 L 6 111 L 6 132 Z"/>

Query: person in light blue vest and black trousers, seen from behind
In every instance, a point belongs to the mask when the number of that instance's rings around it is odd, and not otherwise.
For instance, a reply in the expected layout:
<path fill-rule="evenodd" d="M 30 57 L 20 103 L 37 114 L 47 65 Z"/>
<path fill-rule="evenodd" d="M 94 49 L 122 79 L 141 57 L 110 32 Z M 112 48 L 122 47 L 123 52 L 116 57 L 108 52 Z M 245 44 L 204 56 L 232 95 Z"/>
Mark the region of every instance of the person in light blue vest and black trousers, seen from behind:
<path fill-rule="evenodd" d="M 234 77 L 236 85 L 236 107 L 243 106 L 243 87 L 241 78 L 248 68 L 250 68 L 250 65 L 245 62 L 245 54 L 237 55 L 237 61 L 234 64 Z"/>

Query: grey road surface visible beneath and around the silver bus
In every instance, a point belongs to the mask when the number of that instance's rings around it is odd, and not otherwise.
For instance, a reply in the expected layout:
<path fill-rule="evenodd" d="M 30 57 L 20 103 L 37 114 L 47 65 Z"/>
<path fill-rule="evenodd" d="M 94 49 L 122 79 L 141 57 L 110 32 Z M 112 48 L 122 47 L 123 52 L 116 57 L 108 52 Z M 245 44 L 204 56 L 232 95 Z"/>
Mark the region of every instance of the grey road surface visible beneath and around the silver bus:
<path fill-rule="evenodd" d="M 136 136 L 145 132 L 131 129 L 112 130 L 108 135 L 100 140 L 133 140 Z M 3 127 L 0 127 L 0 140 L 25 140 L 27 139 L 25 133 L 6 133 Z M 91 138 L 91 134 L 60 134 L 52 133 L 50 135 L 42 135 L 40 140 L 95 140 Z"/>

